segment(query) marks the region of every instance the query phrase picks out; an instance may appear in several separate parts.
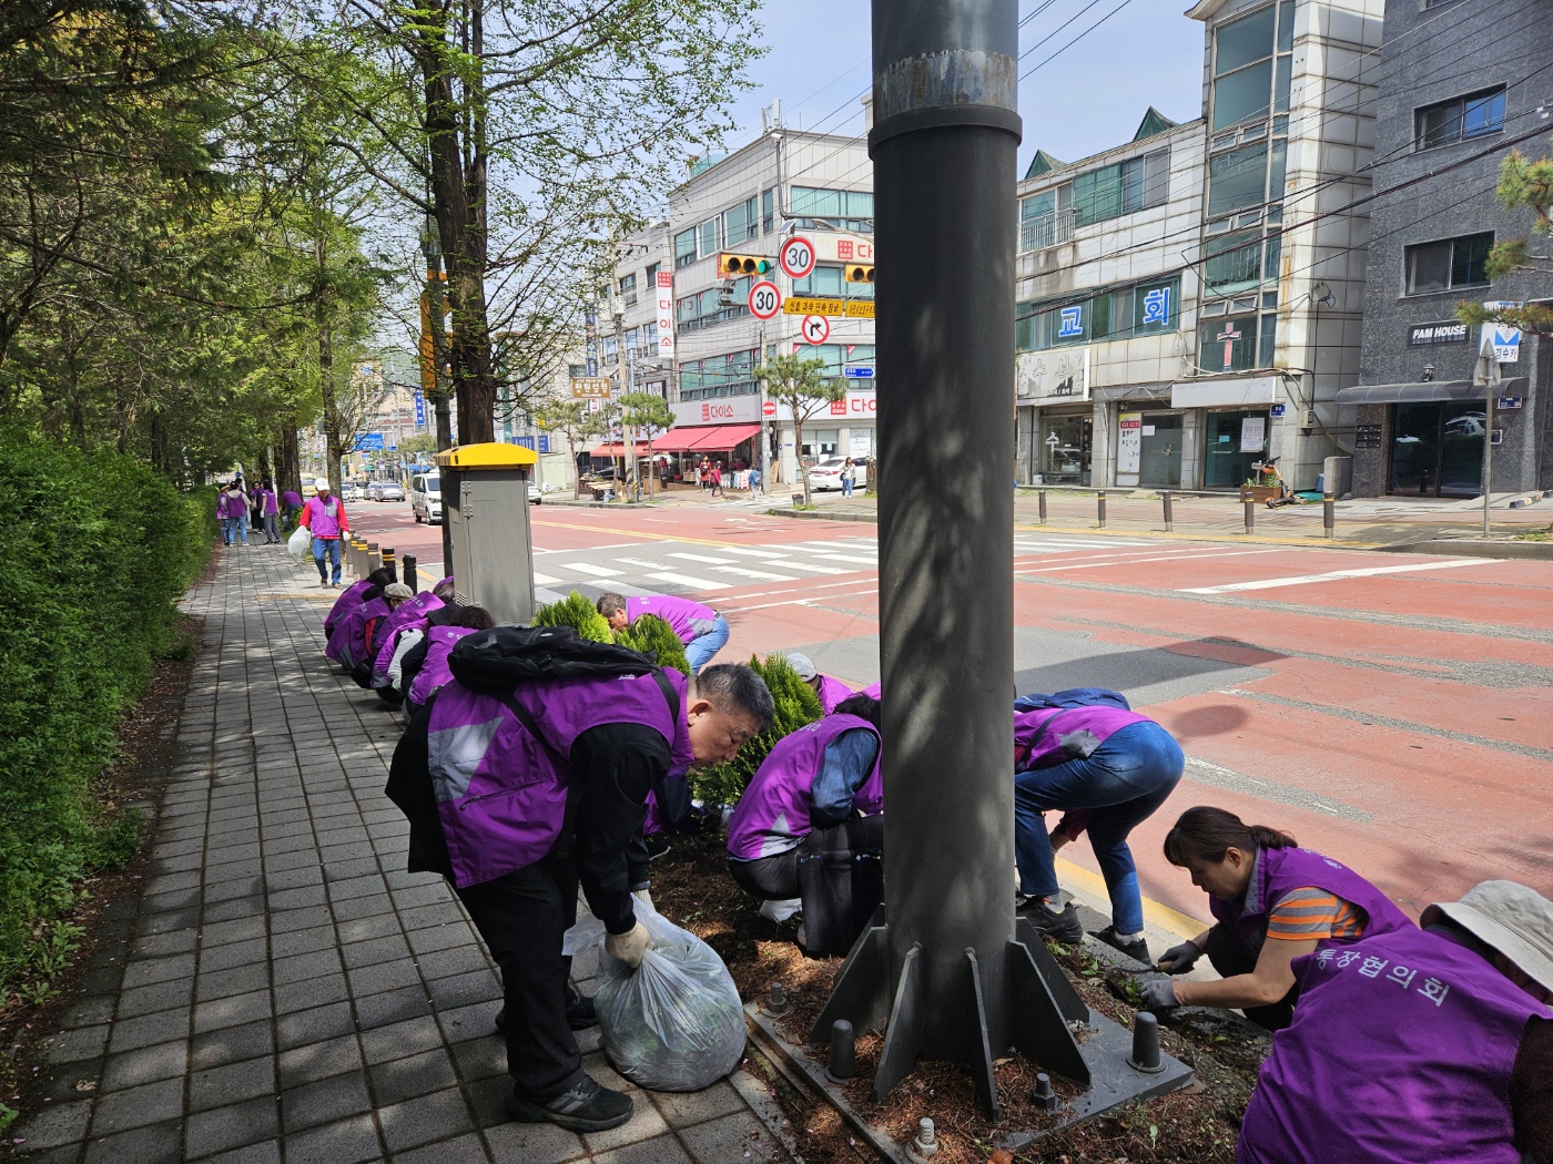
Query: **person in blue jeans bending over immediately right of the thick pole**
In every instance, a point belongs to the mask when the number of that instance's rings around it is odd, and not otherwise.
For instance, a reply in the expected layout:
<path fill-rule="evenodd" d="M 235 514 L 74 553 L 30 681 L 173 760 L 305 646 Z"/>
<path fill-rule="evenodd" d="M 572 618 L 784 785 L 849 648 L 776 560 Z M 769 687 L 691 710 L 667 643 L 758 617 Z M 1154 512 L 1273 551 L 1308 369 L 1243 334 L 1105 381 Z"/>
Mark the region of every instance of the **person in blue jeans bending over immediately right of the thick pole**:
<path fill-rule="evenodd" d="M 1062 706 L 1075 695 L 1078 706 Z M 1140 962 L 1149 961 L 1143 941 L 1143 896 L 1127 835 L 1174 792 L 1185 768 L 1180 745 L 1148 715 L 1129 711 L 1126 698 L 1103 688 L 1056 695 L 1025 695 L 1014 712 L 1014 857 L 1019 864 L 1019 906 L 1037 933 L 1079 942 L 1084 927 L 1070 905 L 1058 903 L 1053 854 L 1089 830 L 1110 894 L 1110 925 L 1100 941 Z M 1048 810 L 1065 815 L 1047 835 Z"/>

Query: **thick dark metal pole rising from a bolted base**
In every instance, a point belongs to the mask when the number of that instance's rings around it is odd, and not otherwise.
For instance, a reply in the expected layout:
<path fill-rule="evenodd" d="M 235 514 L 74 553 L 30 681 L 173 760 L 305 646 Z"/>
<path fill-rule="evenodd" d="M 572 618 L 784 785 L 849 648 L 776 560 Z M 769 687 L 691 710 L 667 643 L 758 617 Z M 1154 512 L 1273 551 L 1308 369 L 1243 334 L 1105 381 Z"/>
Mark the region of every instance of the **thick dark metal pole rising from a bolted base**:
<path fill-rule="evenodd" d="M 972 1062 L 1014 931 L 1016 0 L 874 0 L 879 652 L 890 968 L 916 1054 Z M 949 1004 L 946 1004 L 949 1003 Z"/>

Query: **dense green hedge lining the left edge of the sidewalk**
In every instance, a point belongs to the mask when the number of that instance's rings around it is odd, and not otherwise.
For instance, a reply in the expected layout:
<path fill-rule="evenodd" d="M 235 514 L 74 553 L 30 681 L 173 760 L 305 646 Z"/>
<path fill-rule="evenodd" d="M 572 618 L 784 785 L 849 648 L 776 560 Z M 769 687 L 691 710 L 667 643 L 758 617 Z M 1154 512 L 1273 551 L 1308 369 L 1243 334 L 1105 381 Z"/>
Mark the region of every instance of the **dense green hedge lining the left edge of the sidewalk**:
<path fill-rule="evenodd" d="M 0 433 L 0 1001 L 64 965 L 78 883 L 138 844 L 95 785 L 179 638 L 214 512 L 213 489 L 134 458 Z"/>

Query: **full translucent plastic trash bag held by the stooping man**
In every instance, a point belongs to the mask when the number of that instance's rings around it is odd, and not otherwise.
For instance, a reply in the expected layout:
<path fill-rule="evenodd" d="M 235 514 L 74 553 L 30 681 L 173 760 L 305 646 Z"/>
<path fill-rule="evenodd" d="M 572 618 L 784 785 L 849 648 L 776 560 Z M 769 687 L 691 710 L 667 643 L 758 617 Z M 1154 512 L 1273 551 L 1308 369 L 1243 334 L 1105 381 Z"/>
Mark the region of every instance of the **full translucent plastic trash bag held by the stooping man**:
<path fill-rule="evenodd" d="M 696 934 L 637 899 L 637 920 L 652 948 L 632 970 L 599 951 L 593 1006 L 604 1054 L 615 1071 L 649 1091 L 700 1091 L 744 1057 L 744 1007 L 728 967 Z M 595 917 L 567 931 L 564 950 L 603 945 Z"/>

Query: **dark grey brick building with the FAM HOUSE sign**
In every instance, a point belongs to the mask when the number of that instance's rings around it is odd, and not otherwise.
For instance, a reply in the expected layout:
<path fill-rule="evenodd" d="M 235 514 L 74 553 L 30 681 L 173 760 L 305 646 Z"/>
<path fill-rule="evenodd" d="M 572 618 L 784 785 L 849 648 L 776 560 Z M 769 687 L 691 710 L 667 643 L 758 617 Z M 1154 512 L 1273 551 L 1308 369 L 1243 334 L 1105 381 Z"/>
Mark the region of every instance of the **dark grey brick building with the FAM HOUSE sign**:
<path fill-rule="evenodd" d="M 1548 151 L 1553 20 L 1539 0 L 1390 0 L 1381 53 L 1362 386 L 1354 413 L 1359 497 L 1474 497 L 1492 430 L 1496 492 L 1553 487 L 1553 341 L 1508 334 L 1502 382 L 1474 386 L 1483 335 L 1458 303 L 1548 300 L 1553 276 L 1491 281 L 1496 242 L 1528 234 L 1531 211 L 1494 197 L 1511 149 Z M 1542 247 L 1533 245 L 1533 250 Z M 1492 404 L 1492 408 L 1489 405 Z"/>

